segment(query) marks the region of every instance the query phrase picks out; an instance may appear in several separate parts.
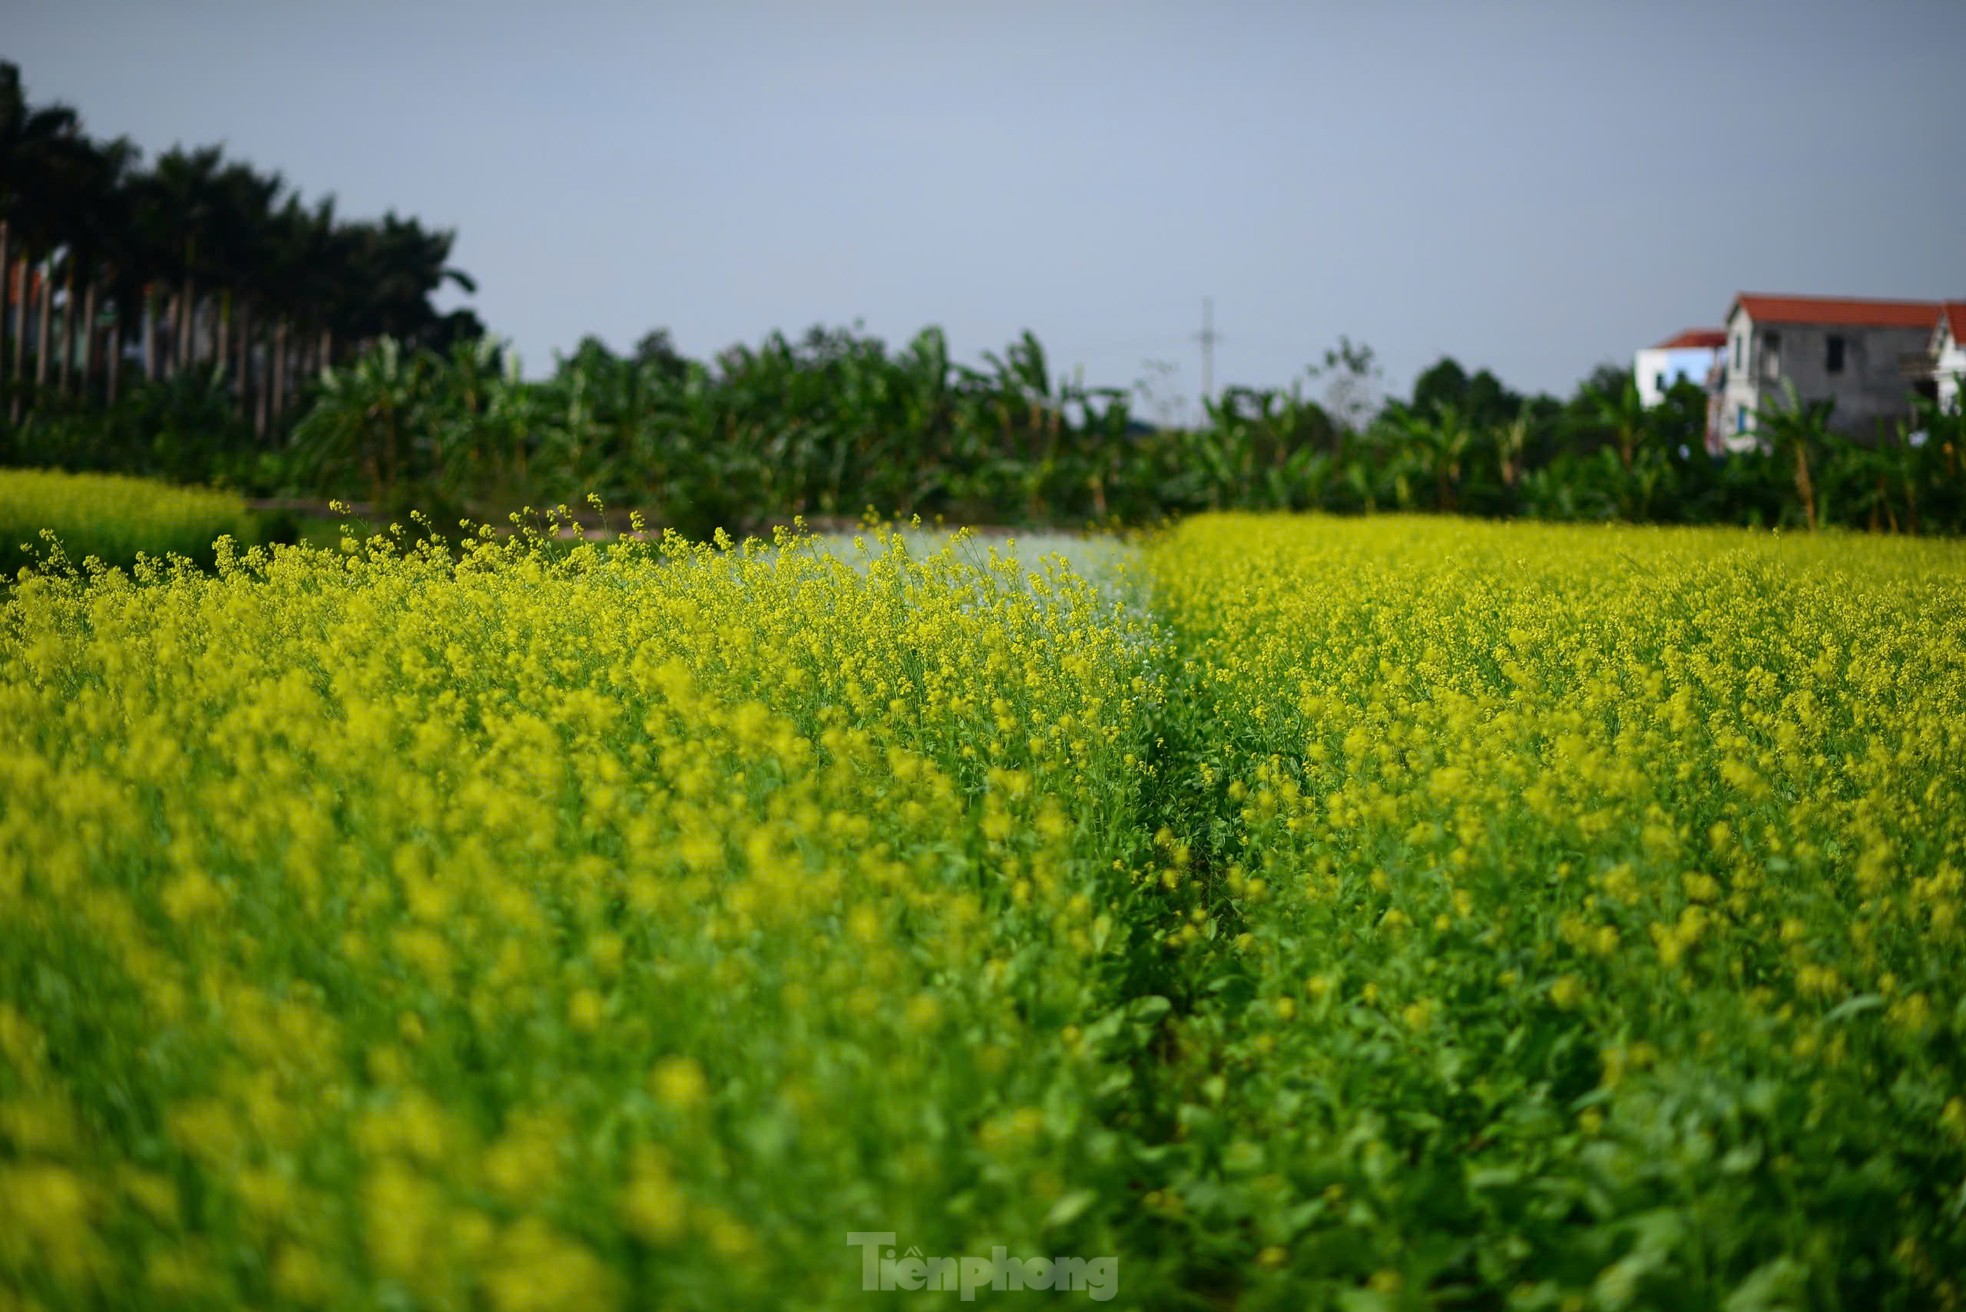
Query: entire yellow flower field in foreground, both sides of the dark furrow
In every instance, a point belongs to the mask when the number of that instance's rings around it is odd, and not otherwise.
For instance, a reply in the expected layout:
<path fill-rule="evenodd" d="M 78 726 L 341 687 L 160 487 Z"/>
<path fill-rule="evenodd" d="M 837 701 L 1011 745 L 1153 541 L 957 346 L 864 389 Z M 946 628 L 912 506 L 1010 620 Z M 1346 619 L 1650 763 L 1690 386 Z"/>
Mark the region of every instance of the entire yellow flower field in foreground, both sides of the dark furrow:
<path fill-rule="evenodd" d="M 1960 779 L 1958 545 L 28 576 L 0 1308 L 1950 1306 Z"/>

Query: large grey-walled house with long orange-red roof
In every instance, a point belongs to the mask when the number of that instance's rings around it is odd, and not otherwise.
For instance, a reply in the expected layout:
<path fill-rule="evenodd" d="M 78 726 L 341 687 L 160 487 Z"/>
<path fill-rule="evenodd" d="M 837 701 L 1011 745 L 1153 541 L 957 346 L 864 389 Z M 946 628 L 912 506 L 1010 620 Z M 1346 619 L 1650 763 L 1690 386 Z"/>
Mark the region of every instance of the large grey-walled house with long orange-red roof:
<path fill-rule="evenodd" d="M 1787 297 L 1744 291 L 1726 313 L 1726 356 L 1710 445 L 1756 445 L 1756 413 L 1799 401 L 1836 401 L 1830 427 L 1879 441 L 1911 417 L 1919 380 L 1931 378 L 1938 301 Z"/>

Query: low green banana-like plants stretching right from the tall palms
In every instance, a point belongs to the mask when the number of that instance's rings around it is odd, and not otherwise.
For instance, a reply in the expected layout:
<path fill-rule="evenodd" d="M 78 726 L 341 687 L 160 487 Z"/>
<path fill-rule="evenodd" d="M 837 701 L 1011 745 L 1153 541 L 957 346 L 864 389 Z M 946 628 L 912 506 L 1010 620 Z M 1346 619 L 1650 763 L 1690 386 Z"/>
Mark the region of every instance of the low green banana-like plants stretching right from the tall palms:
<path fill-rule="evenodd" d="M 1386 397 L 1353 342 L 1292 388 L 1205 397 L 1199 425 L 1134 419 L 1156 401 L 1150 384 L 1058 376 L 1028 332 L 981 366 L 952 360 L 940 328 L 893 350 L 814 327 L 710 362 L 663 332 L 631 354 L 588 338 L 537 382 L 486 338 L 383 340 L 322 378 L 289 474 L 440 513 L 598 494 L 694 535 L 867 507 L 969 523 L 1244 507 L 1966 531 L 1966 429 L 1929 403 L 1860 445 L 1826 403 L 1791 399 L 1762 413 L 1762 450 L 1716 458 L 1693 384 L 1648 407 L 1628 370 L 1604 366 L 1557 399 L 1441 360 Z"/>

